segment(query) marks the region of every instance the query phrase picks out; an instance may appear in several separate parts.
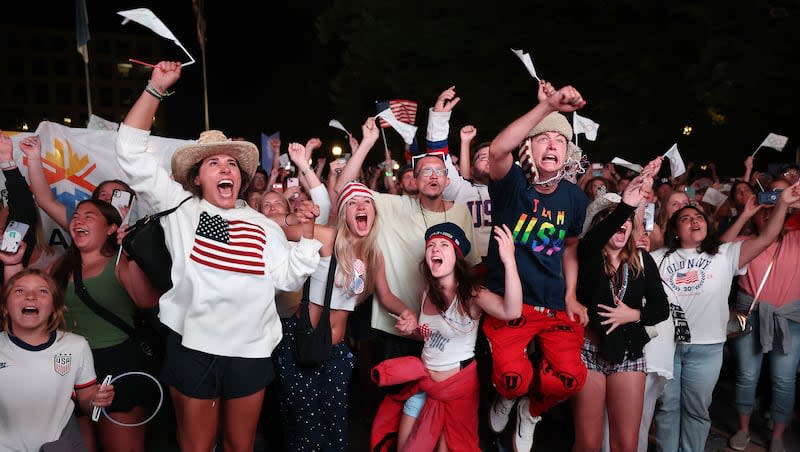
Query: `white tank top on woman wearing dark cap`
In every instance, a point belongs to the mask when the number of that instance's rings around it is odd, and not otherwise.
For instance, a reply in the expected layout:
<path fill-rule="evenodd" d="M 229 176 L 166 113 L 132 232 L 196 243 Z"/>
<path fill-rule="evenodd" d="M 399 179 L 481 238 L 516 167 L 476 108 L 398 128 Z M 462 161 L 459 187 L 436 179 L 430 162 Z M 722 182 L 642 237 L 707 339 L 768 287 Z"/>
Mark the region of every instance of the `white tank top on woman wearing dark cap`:
<path fill-rule="evenodd" d="M 425 339 L 422 362 L 435 371 L 458 368 L 461 361 L 475 356 L 478 320 L 461 313 L 455 297 L 444 314 L 425 314 L 426 295 L 422 296 L 419 314 L 420 331 Z"/>

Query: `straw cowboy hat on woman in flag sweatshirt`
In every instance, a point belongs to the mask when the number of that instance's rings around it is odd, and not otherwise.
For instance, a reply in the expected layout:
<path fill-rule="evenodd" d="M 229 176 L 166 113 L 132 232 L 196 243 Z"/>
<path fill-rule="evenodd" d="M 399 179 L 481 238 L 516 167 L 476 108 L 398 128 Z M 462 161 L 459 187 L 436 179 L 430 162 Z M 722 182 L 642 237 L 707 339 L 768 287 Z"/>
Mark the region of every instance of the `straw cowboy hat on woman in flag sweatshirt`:
<path fill-rule="evenodd" d="M 189 180 L 189 171 L 197 162 L 210 155 L 226 154 L 239 162 L 243 174 L 253 179 L 258 167 L 258 148 L 248 141 L 233 141 L 219 130 L 206 130 L 200 134 L 196 143 L 179 147 L 172 154 L 172 177 L 184 188 L 192 191 L 193 182 Z M 246 187 L 242 187 L 243 189 Z"/>

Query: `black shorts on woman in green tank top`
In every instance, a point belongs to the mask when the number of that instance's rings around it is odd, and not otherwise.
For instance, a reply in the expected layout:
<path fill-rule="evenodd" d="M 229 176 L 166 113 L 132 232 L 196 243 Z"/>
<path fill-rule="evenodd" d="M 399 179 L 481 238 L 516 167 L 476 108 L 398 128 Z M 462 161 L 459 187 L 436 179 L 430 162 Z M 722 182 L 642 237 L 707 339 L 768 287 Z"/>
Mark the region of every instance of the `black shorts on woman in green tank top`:
<path fill-rule="evenodd" d="M 92 357 L 94 357 L 97 384 L 100 384 L 106 375 L 116 377 L 125 372 L 143 372 L 145 367 L 142 355 L 131 339 L 112 347 L 93 349 Z M 106 408 L 106 411 L 124 413 L 136 406 L 146 406 L 146 402 L 157 393 L 158 388 L 147 377 L 124 377 L 119 382 L 114 382 L 114 403 Z"/>

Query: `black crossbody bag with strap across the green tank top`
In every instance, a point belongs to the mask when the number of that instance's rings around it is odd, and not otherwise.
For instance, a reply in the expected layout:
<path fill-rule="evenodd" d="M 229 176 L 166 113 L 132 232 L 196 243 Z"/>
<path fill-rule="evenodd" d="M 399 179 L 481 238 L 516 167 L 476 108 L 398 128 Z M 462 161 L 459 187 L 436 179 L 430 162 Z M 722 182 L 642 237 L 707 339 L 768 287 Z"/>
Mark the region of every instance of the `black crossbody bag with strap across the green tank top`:
<path fill-rule="evenodd" d="M 134 315 L 134 324 L 136 325 L 134 328 L 92 298 L 89 291 L 86 290 L 86 285 L 83 284 L 80 262 L 72 270 L 72 282 L 75 286 L 75 294 L 92 312 L 133 339 L 144 360 L 145 370 L 157 375 L 164 360 L 166 342 L 161 334 L 161 322 L 158 321 L 155 309 L 137 308 Z"/>

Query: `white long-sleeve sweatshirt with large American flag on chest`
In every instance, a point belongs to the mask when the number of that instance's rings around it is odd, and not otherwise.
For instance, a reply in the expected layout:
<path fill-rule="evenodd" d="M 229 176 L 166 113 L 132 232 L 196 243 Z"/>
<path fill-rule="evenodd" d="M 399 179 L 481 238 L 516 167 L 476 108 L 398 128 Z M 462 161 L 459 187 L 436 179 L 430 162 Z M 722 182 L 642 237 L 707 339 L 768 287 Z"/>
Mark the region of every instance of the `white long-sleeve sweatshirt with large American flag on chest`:
<path fill-rule="evenodd" d="M 117 161 L 148 210 L 161 211 L 191 193 L 147 152 L 149 135 L 121 125 Z M 161 322 L 193 350 L 269 357 L 282 337 L 275 290 L 302 286 L 319 263 L 321 243 L 290 244 L 277 224 L 242 200 L 221 209 L 195 196 L 161 224 L 173 281 L 159 301 Z"/>

